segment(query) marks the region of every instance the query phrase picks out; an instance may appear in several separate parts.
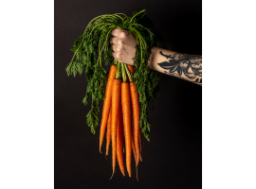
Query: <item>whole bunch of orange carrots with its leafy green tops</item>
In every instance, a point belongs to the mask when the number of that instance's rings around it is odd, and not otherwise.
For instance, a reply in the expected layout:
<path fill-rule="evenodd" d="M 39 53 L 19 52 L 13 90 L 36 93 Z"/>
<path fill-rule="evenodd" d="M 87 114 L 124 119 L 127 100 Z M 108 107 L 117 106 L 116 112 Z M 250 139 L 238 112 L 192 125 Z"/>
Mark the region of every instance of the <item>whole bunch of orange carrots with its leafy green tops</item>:
<path fill-rule="evenodd" d="M 130 31 L 137 38 L 133 66 L 114 60 L 112 56 L 111 43 L 107 42 L 110 40 L 111 31 L 116 28 Z M 81 76 L 84 71 L 88 84 L 82 103 L 86 106 L 91 97 L 91 109 L 86 114 L 86 123 L 93 134 L 99 125 L 99 103 L 104 100 L 100 152 L 106 132 L 106 155 L 112 141 L 111 178 L 115 172 L 116 159 L 122 175 L 125 176 L 124 152 L 126 169 L 131 177 L 132 150 L 137 168 L 139 159 L 142 161 L 141 134 L 150 141 L 151 125 L 148 121 L 147 107 L 153 109 L 153 100 L 159 88 L 159 77 L 155 70 L 148 67 L 148 60 L 151 48 L 161 47 L 155 34 L 155 26 L 146 15 L 145 9 L 134 11 L 131 16 L 124 13 L 103 14 L 90 21 L 70 49 L 74 55 L 65 71 L 67 76 L 74 77 L 78 74 Z M 108 78 L 103 62 L 105 66 L 111 65 Z M 104 91 L 106 78 L 107 85 Z"/>

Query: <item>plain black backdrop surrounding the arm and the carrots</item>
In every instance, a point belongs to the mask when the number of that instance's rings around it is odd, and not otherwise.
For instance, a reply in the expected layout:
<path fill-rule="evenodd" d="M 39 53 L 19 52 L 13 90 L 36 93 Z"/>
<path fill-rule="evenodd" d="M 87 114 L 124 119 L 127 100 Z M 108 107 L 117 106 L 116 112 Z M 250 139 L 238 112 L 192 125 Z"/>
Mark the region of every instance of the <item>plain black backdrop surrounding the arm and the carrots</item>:
<path fill-rule="evenodd" d="M 83 106 L 87 82 L 67 77 L 74 41 L 102 14 L 147 10 L 164 48 L 203 55 L 202 0 L 54 0 L 53 2 L 53 188 L 203 188 L 203 87 L 158 74 L 160 94 L 149 109 L 150 138 L 142 140 L 142 160 L 136 179 L 122 177 L 117 163 L 112 180 L 111 148 L 108 161 L 99 152 L 99 130 L 93 135 Z M 102 109 L 102 101 L 100 104 Z M 101 116 L 100 116 L 101 120 Z"/>

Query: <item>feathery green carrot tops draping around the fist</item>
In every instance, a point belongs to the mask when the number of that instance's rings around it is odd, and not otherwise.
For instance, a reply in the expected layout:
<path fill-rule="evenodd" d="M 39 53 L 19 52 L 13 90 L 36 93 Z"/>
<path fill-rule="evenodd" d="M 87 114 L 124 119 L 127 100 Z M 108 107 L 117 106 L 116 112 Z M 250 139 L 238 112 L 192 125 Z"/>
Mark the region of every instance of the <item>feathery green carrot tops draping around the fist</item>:
<path fill-rule="evenodd" d="M 116 13 L 94 18 L 86 26 L 82 36 L 73 44 L 71 51 L 74 56 L 65 71 L 67 76 L 73 75 L 74 77 L 78 73 L 82 75 L 83 70 L 85 72 L 88 85 L 82 103 L 86 105 L 88 98 L 92 97 L 91 110 L 86 115 L 86 122 L 91 132 L 95 134 L 95 129 L 99 123 L 99 102 L 104 99 L 103 85 L 107 77 L 107 72 L 103 69 L 102 62 L 104 62 L 104 65 L 112 65 L 114 63 L 109 41 L 113 37 L 111 31 L 115 28 L 133 32 L 137 42 L 139 42 L 139 45 L 136 45 L 133 80 L 139 94 L 140 129 L 149 141 L 151 126 L 148 122 L 147 106 L 149 105 L 153 109 L 153 100 L 159 89 L 159 77 L 155 70 L 148 67 L 148 60 L 151 48 L 153 46 L 160 47 L 160 44 L 155 40 L 155 27 L 146 15 L 145 9 L 133 12 L 131 17 L 123 13 Z"/>

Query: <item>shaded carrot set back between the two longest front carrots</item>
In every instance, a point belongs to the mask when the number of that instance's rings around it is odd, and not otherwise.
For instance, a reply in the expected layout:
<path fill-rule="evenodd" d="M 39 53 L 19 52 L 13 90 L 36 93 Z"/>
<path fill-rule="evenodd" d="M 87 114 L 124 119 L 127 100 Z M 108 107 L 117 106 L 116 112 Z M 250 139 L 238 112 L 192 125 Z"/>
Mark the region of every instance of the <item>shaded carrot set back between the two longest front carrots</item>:
<path fill-rule="evenodd" d="M 122 110 L 121 110 L 121 100 L 119 100 L 119 119 L 118 119 L 118 129 L 117 129 L 117 157 L 119 162 L 119 168 L 123 176 L 124 165 L 123 165 L 123 123 L 122 123 Z"/>

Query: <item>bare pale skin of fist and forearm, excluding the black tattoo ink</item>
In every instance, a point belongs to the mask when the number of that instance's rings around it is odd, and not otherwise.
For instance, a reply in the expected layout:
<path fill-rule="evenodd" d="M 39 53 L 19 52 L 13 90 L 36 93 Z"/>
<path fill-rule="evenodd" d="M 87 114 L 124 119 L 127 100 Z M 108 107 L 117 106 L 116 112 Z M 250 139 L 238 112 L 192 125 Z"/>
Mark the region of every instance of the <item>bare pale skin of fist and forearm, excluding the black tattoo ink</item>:
<path fill-rule="evenodd" d="M 132 60 L 132 59 L 136 55 L 135 46 L 137 44 L 137 39 L 136 39 L 135 35 L 130 31 L 126 31 L 126 30 L 123 30 L 123 29 L 120 29 L 120 28 L 113 29 L 112 35 L 114 37 L 111 39 L 110 43 L 112 43 L 111 48 L 113 50 L 113 53 L 112 53 L 113 57 L 116 60 L 119 60 L 119 62 L 133 65 L 134 60 Z M 186 54 L 180 54 L 177 57 L 177 52 L 153 46 L 152 49 L 151 49 L 151 54 L 150 54 L 149 60 L 148 60 L 149 68 L 151 68 L 151 69 L 153 69 L 157 72 L 169 75 L 169 76 L 179 77 L 179 78 L 191 81 L 195 84 L 198 84 L 198 85 L 201 85 L 201 86 L 203 85 L 203 83 L 195 82 L 196 78 L 197 78 L 197 80 L 198 79 L 200 80 L 200 79 L 203 78 L 202 74 L 200 76 L 195 77 L 195 78 L 191 77 L 193 75 L 192 68 L 195 68 L 195 69 L 201 68 L 199 70 L 199 72 L 201 72 L 201 73 L 203 72 L 202 56 L 198 56 L 198 59 L 197 59 L 198 62 L 200 60 L 200 64 L 194 64 L 195 60 L 192 60 L 192 59 L 194 59 L 194 57 L 195 58 L 197 57 L 196 55 L 189 55 L 189 56 L 192 57 L 189 60 L 181 60 L 180 59 L 179 66 L 181 68 L 186 67 L 188 65 L 189 61 L 192 62 L 192 65 L 187 70 L 187 76 L 185 76 L 184 73 L 181 76 L 179 76 L 177 73 L 170 73 L 169 70 L 164 69 L 161 66 L 159 66 L 158 63 L 170 60 L 170 59 L 167 59 L 166 57 L 162 56 L 160 54 L 160 52 L 162 52 L 164 55 L 172 56 L 174 58 L 174 60 L 179 60 L 178 59 L 179 57 L 182 58 L 182 56 L 186 55 Z"/>

